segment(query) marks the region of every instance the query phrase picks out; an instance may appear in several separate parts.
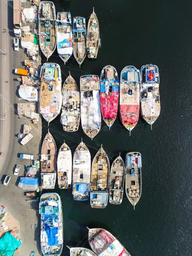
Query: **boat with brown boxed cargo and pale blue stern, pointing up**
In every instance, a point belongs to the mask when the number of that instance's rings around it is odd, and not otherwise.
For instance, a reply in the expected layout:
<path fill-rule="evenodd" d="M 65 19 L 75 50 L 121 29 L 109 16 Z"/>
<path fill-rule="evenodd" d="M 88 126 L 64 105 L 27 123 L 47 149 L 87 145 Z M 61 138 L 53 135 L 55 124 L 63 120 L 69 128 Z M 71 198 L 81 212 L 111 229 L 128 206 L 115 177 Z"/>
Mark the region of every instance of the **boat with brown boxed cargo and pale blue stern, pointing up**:
<path fill-rule="evenodd" d="M 93 158 L 91 168 L 91 207 L 105 208 L 108 201 L 110 163 L 104 149 L 101 148 Z"/>

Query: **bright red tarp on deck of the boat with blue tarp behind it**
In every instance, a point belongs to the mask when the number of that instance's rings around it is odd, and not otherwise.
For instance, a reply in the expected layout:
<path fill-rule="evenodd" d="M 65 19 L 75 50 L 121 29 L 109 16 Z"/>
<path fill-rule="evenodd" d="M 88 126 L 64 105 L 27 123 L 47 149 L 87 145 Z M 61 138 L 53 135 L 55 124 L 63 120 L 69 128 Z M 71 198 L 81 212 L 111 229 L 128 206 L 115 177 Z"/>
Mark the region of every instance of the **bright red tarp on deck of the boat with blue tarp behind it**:
<path fill-rule="evenodd" d="M 110 92 L 109 95 L 101 92 L 100 101 L 103 118 L 115 118 L 118 110 L 119 91 Z"/>

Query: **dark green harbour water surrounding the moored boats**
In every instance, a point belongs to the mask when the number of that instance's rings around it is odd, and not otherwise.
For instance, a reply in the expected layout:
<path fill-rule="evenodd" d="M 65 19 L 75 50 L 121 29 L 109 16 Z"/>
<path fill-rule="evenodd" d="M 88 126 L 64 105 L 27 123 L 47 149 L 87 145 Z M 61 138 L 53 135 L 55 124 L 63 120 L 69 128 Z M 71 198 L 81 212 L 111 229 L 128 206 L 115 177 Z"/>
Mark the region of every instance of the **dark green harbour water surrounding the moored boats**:
<path fill-rule="evenodd" d="M 152 131 L 140 117 L 130 137 L 118 116 L 110 131 L 102 121 L 101 132 L 91 141 L 81 126 L 78 132 L 64 132 L 60 116 L 50 123 L 58 149 L 65 139 L 74 152 L 82 138 L 92 159 L 101 143 L 110 163 L 119 152 L 124 159 L 128 151 L 142 154 L 142 196 L 135 211 L 125 195 L 121 205 L 108 203 L 106 209 L 99 210 L 91 209 L 90 201 L 73 200 L 71 189 L 55 189 L 62 199 L 64 244 L 77 246 L 88 234 L 86 226 L 101 227 L 116 236 L 132 256 L 192 255 L 192 2 L 53 2 L 56 12 L 70 11 L 72 16 L 85 18 L 94 6 L 101 36 L 98 58 L 86 58 L 81 69 L 73 56 L 64 66 L 54 52 L 49 62 L 61 65 L 62 81 L 70 71 L 79 85 L 81 75 L 100 76 L 108 64 L 116 67 L 119 75 L 128 65 L 140 69 L 152 63 L 160 70 L 161 113 Z M 45 135 L 47 123 L 43 125 Z M 78 246 L 83 245 L 89 246 L 87 237 Z M 63 252 L 69 255 L 65 246 Z"/>

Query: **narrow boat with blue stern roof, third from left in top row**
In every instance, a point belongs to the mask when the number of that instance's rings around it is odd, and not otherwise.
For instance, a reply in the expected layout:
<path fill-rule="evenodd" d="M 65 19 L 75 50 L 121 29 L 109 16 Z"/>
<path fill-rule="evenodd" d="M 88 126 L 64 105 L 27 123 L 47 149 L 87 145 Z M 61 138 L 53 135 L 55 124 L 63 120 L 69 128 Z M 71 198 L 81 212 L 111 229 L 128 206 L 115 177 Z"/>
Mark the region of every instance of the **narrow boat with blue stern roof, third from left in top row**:
<path fill-rule="evenodd" d="M 81 67 L 86 57 L 86 23 L 84 17 L 73 17 L 73 55 Z"/>

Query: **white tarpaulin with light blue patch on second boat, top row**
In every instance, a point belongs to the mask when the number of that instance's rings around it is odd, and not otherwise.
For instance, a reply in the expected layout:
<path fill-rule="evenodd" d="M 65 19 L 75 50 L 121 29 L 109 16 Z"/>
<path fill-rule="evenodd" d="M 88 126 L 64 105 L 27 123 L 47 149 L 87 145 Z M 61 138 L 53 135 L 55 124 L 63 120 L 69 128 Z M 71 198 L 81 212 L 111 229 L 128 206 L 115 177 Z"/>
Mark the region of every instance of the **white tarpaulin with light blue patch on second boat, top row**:
<path fill-rule="evenodd" d="M 57 32 L 57 48 L 59 54 L 70 54 L 73 53 L 72 41 L 67 41 L 68 38 L 72 38 L 71 33 L 60 33 Z"/>

